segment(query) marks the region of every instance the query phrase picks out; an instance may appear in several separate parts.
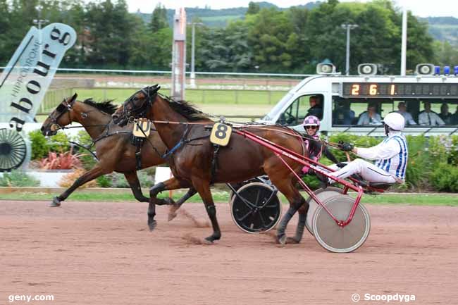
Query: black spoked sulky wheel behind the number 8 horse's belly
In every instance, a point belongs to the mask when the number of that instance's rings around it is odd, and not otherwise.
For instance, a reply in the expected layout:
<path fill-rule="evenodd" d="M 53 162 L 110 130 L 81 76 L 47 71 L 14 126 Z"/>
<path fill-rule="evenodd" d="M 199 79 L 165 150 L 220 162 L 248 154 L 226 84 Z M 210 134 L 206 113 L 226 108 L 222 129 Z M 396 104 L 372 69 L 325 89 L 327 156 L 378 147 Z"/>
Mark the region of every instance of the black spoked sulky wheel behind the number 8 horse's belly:
<path fill-rule="evenodd" d="M 237 227 L 248 233 L 266 232 L 280 220 L 280 199 L 272 187 L 252 182 L 240 187 L 230 201 L 230 214 Z M 269 200 L 270 199 L 270 200 Z"/>

